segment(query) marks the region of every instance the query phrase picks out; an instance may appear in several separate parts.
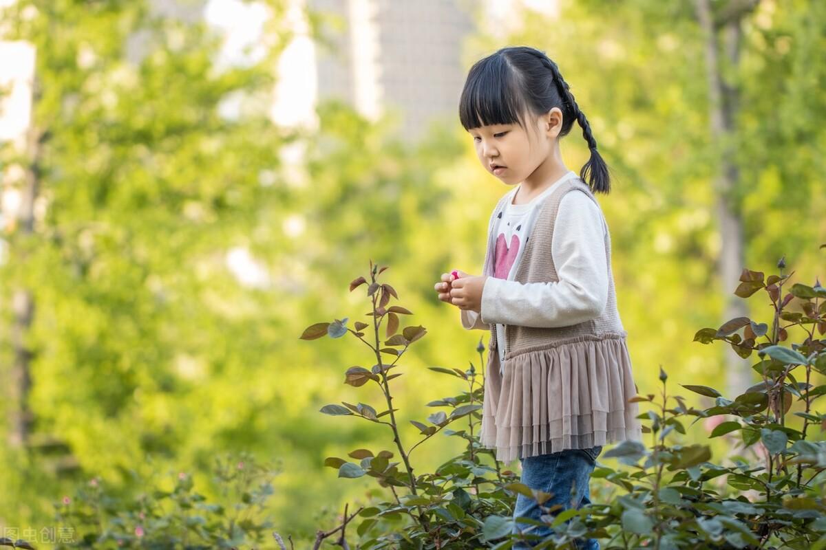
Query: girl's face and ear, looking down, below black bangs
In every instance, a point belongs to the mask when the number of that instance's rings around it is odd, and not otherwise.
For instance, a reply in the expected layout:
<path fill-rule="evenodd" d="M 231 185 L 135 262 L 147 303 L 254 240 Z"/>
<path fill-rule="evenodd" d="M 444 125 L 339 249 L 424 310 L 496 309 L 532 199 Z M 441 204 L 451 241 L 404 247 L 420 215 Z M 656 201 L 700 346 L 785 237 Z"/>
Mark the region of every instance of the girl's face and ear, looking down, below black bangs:
<path fill-rule="evenodd" d="M 479 162 L 494 176 L 508 185 L 525 181 L 549 155 L 561 128 L 556 123 L 556 107 L 529 125 L 531 135 L 518 124 L 489 125 L 468 130 L 476 146 Z M 530 124 L 534 117 L 526 116 Z M 501 168 L 496 167 L 496 165 Z"/>

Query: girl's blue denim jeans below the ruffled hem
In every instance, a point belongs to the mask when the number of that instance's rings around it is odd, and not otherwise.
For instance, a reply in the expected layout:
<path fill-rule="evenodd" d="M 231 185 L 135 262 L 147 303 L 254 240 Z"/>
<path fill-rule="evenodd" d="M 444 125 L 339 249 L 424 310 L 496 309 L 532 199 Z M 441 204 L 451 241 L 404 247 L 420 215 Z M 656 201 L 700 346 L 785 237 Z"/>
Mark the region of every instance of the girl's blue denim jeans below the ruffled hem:
<path fill-rule="evenodd" d="M 563 505 L 562 509 L 554 510 L 550 515 L 557 515 L 562 510 L 572 507 L 580 508 L 584 504 L 591 502 L 591 493 L 588 491 L 588 482 L 591 480 L 591 472 L 596 465 L 596 457 L 602 452 L 602 446 L 597 445 L 591 449 L 565 449 L 558 453 L 540 454 L 538 456 L 520 458 L 522 463 L 521 482 L 531 489 L 539 489 L 548 493 L 553 493 L 544 502 L 545 508 L 553 505 Z M 576 485 L 576 494 L 572 496 L 572 485 Z M 516 518 L 530 518 L 539 520 L 539 516 L 547 515 L 547 511 L 540 510 L 539 504 L 527 496 L 519 493 L 516 496 L 514 507 L 514 526 L 511 533 L 525 535 L 534 534 L 542 538 L 553 534 L 553 529 L 549 525 L 542 527 L 531 524 L 516 523 Z M 514 550 L 525 550 L 538 544 L 541 539 L 528 539 L 525 541 L 514 539 Z M 596 538 L 587 540 L 577 539 L 577 548 L 581 550 L 599 550 L 600 543 Z"/>

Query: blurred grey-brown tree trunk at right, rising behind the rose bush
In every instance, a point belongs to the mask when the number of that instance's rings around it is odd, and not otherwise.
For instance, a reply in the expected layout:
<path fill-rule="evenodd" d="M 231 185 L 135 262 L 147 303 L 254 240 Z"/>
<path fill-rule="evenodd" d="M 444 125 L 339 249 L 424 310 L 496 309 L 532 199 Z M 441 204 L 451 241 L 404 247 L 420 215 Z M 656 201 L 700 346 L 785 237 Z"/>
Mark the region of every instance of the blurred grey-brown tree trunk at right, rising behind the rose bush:
<path fill-rule="evenodd" d="M 733 294 L 740 273 L 745 267 L 743 219 L 735 193 L 739 170 L 734 159 L 732 139 L 736 131 L 734 120 L 738 110 L 738 88 L 736 84 L 729 85 L 724 82 L 719 58 L 721 54 L 724 55 L 730 68 L 736 71 L 742 39 L 740 22 L 743 16 L 756 6 L 757 1 L 735 0 L 729 3 L 721 12 L 721 17 L 715 21 L 710 0 L 695 0 L 697 18 L 705 33 L 705 71 L 709 87 L 711 139 L 715 146 L 714 150 L 720 155 L 716 165 L 717 174 L 714 176 L 714 192 L 722 242 L 717 272 L 725 294 L 723 322 L 734 317 L 748 317 L 748 309 L 743 299 Z M 723 52 L 720 51 L 719 34 L 724 38 Z M 752 385 L 749 361 L 743 360 L 730 347 L 725 350 L 725 369 L 726 389 L 730 396 L 738 396 Z"/>

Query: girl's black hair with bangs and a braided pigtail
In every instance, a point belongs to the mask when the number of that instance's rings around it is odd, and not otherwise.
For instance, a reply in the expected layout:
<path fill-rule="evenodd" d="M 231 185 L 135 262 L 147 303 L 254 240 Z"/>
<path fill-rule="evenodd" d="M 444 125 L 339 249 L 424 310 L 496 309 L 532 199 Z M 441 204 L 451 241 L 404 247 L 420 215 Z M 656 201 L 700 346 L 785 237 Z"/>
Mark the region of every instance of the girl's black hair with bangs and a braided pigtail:
<path fill-rule="evenodd" d="M 582 180 L 595 193 L 610 192 L 608 165 L 596 150 L 591 125 L 557 64 L 539 49 L 510 46 L 474 63 L 459 98 L 459 120 L 466 130 L 510 124 L 525 128 L 523 113 L 539 117 L 553 107 L 563 112 L 560 138 L 571 131 L 574 120 L 582 126 L 582 137 L 591 150 L 591 158 L 579 173 Z"/>

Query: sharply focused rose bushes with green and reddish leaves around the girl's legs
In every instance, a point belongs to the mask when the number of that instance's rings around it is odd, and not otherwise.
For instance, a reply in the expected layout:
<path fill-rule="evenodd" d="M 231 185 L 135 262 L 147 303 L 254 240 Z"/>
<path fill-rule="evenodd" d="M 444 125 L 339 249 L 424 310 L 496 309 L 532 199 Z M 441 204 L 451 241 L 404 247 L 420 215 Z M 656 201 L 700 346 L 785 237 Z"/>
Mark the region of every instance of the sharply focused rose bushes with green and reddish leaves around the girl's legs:
<path fill-rule="evenodd" d="M 325 466 L 337 469 L 339 477 L 374 477 L 381 487 L 392 491 L 392 501 L 376 499 L 352 516 L 345 513 L 342 537 L 344 527 L 355 516 L 361 519 L 356 527 L 358 548 L 510 548 L 514 537 L 510 534 L 513 522 L 510 510 L 516 494 L 534 498 L 544 510 L 539 524 L 553 527 L 554 533 L 541 541 L 529 531 L 516 535 L 538 543 L 535 548 L 572 548 L 572 544 L 585 537 L 602 539 L 601 548 L 826 546 L 826 495 L 821 483 L 821 474 L 826 471 L 826 443 L 807 440 L 810 425 L 826 425 L 826 415 L 812 409 L 814 401 L 826 394 L 826 383 L 811 383 L 814 375 L 826 374 L 826 340 L 814 334 L 814 327 L 822 327 L 820 323 L 826 319 L 826 293 L 819 284 L 814 287 L 795 284 L 789 294 L 792 298 L 786 299 L 782 289 L 790 275 L 782 275 L 781 271 L 781 275 L 771 275 L 764 281 L 762 273 L 743 270 L 741 281 L 759 283 L 754 286 L 769 294 L 774 318 L 771 331 L 767 331 L 763 323 L 740 318 L 724 323 L 717 330 L 703 329 L 695 340 L 724 341 L 749 352 L 758 350 L 759 355 L 767 357 L 754 365 L 763 382 L 733 400 L 726 399 L 714 388 L 686 384 L 686 389 L 714 398 L 713 407 L 687 407 L 683 397 L 668 393 L 668 374 L 661 367 L 660 397 L 655 398 L 653 394 L 633 397 L 635 402 L 651 406 L 639 415 L 643 432 L 651 435 L 650 446 L 624 440 L 602 454 L 602 458 L 615 458 L 626 467 L 610 468 L 600 463 L 591 476 L 614 486 L 615 493 L 605 503 L 594 501 L 577 510 L 563 509 L 561 505 L 545 507 L 548 493 L 518 482 L 514 472 L 501 469 L 490 449 L 481 447 L 473 430 L 482 418 L 478 409 L 484 395 L 484 381 L 477 385 L 477 372 L 472 363 L 466 371 L 430 367 L 467 382 L 468 389 L 455 397 L 428 403 L 430 407 L 448 407 L 448 412 L 430 415 L 427 418 L 430 425 L 411 420 L 424 437 L 409 446 L 402 441 L 396 416 L 398 409 L 391 406 L 390 379 L 404 373 L 388 373 L 399 368 L 399 358 L 426 331 L 424 327 L 406 327 L 402 331 L 404 336 L 392 340 L 399 336 L 393 336 L 398 326 L 389 319 L 391 310 L 398 310 L 398 306 L 387 308 L 387 304 L 391 295 L 397 296 L 392 286 L 377 282 L 377 274 L 387 267 L 378 270 L 371 261 L 370 268 L 367 297 L 373 309 L 367 315 L 373 317 L 373 321 L 355 322 L 355 329 L 345 329 L 372 350 L 377 363 L 373 369 L 348 369 L 344 383 L 355 387 L 371 381 L 376 383 L 385 397 L 387 410 L 377 412 L 364 403 L 348 402 L 326 405 L 320 410 L 328 415 L 355 416 L 386 425 L 401 458 L 391 462 L 394 452 L 390 450 L 374 453 L 370 449 L 355 449 L 349 458 L 358 462 L 339 457 L 325 460 Z M 367 282 L 359 277 L 350 284 L 350 291 Z M 735 294 L 746 298 L 754 292 L 751 288 L 743 292 L 741 285 Z M 824 300 L 821 302 L 821 299 Z M 788 317 L 784 315 L 788 307 L 802 308 L 808 313 L 781 326 L 781 320 Z M 406 313 L 410 312 L 406 310 Z M 336 322 L 345 326 L 347 320 L 345 317 Z M 380 337 L 382 323 L 386 327 L 384 339 Z M 329 334 L 327 325 L 311 325 L 301 338 L 316 340 L 325 336 Z M 781 330 L 786 331 L 787 337 L 792 327 L 803 329 L 805 341 L 792 344 L 791 348 L 781 346 L 778 343 Z M 368 328 L 373 341 L 363 339 L 363 330 Z M 741 329 L 745 332 L 744 338 L 737 332 Z M 820 336 L 823 332 L 820 331 Z M 757 338 L 766 341 L 756 344 Z M 382 360 L 382 340 L 384 346 L 401 347 L 392 354 L 395 358 L 389 364 Z M 477 351 L 482 364 L 483 350 L 480 341 Z M 792 374 L 795 370 L 805 371 L 805 383 L 797 382 Z M 805 411 L 786 416 L 795 399 L 805 406 Z M 724 415 L 736 420 L 716 425 L 710 438 L 733 437 L 739 432 L 741 450 L 759 447 L 764 464 L 755 465 L 740 455 L 734 455 L 730 465 L 716 464 L 712 462 L 708 444 L 673 441 L 675 433 L 686 435 L 686 428 L 695 422 Z M 385 416 L 386 421 L 380 420 Z M 686 426 L 691 417 L 694 421 Z M 467 429 L 447 427 L 460 419 L 467 421 Z M 801 419 L 800 429 L 790 425 L 792 420 L 800 424 Z M 416 475 L 412 451 L 439 432 L 463 439 L 463 453 L 441 464 L 434 472 Z M 723 484 L 719 483 L 720 479 L 724 480 Z M 520 521 L 535 523 L 527 519 Z"/>

